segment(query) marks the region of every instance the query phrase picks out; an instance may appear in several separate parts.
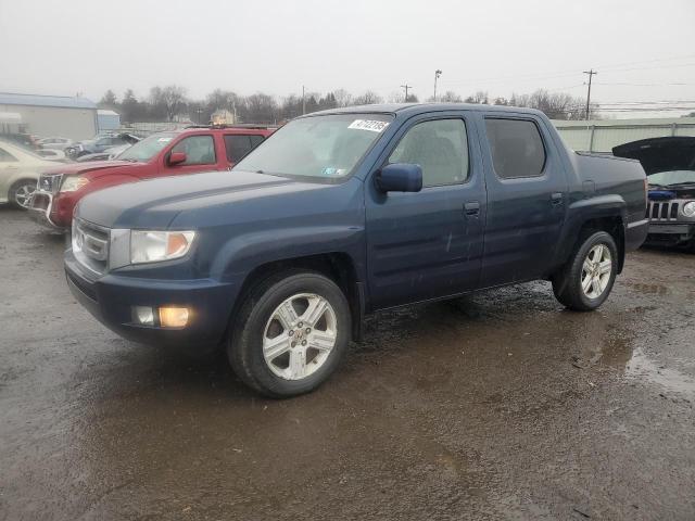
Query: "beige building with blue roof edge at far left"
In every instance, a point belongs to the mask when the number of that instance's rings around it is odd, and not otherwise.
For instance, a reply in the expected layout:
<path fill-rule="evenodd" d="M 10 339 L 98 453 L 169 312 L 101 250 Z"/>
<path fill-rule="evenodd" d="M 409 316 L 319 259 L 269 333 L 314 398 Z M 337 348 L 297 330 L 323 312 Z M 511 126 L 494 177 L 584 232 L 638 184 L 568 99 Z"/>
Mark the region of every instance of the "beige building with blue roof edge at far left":
<path fill-rule="evenodd" d="M 97 134 L 97 105 L 85 98 L 0 92 L 0 114 L 13 114 L 22 131 L 88 139 Z"/>

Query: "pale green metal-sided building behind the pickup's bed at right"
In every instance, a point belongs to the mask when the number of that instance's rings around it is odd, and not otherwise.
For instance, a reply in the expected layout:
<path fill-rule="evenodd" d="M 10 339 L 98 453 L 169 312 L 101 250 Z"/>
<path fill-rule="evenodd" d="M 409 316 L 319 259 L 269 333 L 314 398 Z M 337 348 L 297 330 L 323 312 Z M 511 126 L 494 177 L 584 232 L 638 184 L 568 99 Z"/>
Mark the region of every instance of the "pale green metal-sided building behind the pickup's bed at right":
<path fill-rule="evenodd" d="M 639 139 L 695 136 L 695 117 L 587 122 L 555 119 L 553 125 L 570 149 L 582 152 L 610 153 L 614 147 Z"/>

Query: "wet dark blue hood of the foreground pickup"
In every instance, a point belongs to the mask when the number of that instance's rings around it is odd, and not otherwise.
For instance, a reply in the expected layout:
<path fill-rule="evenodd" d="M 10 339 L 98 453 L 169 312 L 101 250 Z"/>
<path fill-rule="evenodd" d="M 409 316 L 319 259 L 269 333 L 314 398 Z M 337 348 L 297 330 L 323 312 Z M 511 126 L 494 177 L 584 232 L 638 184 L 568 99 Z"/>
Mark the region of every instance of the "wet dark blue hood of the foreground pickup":
<path fill-rule="evenodd" d="M 250 204 L 280 193 L 325 187 L 241 170 L 193 174 L 100 190 L 80 201 L 76 215 L 108 228 L 165 229 L 182 212 Z"/>

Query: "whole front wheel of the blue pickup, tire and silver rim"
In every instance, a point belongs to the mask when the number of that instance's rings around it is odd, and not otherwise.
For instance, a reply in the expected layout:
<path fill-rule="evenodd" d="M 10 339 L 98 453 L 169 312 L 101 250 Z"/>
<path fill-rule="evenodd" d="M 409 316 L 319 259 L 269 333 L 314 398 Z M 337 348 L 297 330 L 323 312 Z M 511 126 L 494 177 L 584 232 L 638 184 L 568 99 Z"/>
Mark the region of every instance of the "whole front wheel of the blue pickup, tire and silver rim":
<path fill-rule="evenodd" d="M 350 342 L 350 306 L 317 272 L 271 277 L 247 296 L 227 353 L 235 372 L 270 397 L 307 393 L 338 367 Z"/>

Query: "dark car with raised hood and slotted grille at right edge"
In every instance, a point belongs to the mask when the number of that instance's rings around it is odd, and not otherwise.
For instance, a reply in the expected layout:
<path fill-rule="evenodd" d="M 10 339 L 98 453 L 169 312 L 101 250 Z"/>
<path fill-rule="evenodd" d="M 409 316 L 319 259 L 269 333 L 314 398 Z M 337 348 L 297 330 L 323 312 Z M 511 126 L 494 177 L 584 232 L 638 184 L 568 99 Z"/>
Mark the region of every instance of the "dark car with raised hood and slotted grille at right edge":
<path fill-rule="evenodd" d="M 646 243 L 695 251 L 695 138 L 642 139 L 616 147 L 612 153 L 639 160 L 647 173 Z"/>

